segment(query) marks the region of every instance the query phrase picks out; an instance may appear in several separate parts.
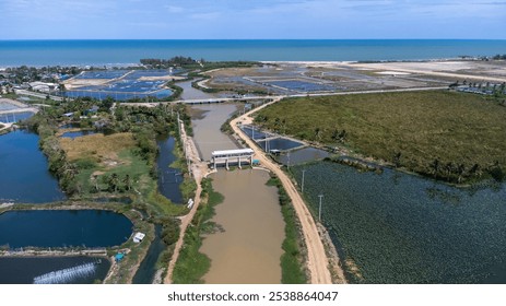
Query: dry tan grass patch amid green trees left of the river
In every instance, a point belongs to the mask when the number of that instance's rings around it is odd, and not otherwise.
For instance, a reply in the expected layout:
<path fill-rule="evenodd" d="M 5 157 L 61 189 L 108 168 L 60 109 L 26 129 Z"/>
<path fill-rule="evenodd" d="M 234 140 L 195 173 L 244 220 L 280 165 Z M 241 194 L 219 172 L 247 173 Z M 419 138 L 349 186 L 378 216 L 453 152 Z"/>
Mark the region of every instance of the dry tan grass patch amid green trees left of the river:
<path fill-rule="evenodd" d="M 107 162 L 108 164 L 111 162 L 118 163 L 119 152 L 136 145 L 131 133 L 115 133 L 110 136 L 96 133 L 75 139 L 60 138 L 60 143 L 70 162 L 91 157 L 96 162 Z"/>

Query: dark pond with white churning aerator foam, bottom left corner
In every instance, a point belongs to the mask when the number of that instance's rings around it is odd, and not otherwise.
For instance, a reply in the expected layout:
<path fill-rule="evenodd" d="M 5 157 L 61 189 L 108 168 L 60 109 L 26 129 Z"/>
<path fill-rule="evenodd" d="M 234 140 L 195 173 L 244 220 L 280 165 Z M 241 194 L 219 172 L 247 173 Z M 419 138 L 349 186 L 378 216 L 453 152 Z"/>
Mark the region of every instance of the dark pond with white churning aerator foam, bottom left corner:
<path fill-rule="evenodd" d="M 0 257 L 0 284 L 93 284 L 109 268 L 102 257 Z"/>

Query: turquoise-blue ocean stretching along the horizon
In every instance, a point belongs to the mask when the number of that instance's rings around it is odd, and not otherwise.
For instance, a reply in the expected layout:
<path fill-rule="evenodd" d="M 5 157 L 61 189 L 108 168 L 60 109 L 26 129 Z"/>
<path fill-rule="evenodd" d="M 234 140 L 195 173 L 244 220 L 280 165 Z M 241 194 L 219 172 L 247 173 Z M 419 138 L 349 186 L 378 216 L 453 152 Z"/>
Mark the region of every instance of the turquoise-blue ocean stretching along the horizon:
<path fill-rule="evenodd" d="M 506 54 L 506 40 L 0 40 L 0 68 L 125 66 L 174 56 L 213 61 L 379 61 L 497 54 Z"/>

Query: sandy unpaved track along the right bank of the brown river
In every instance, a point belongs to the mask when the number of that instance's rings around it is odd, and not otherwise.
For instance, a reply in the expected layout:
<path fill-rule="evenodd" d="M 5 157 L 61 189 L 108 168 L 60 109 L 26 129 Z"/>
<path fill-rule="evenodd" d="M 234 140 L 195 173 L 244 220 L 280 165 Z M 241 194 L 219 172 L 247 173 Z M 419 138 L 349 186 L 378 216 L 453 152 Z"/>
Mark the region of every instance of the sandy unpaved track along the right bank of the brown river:
<path fill-rule="evenodd" d="M 331 284 L 332 279 L 329 271 L 329 259 L 325 251 L 323 244 L 321 242 L 320 235 L 318 233 L 318 227 L 316 226 L 313 215 L 307 209 L 304 200 L 301 195 L 295 189 L 292 180 L 283 173 L 283 170 L 273 162 L 269 160 L 268 156 L 261 151 L 237 126 L 239 121 L 247 125 L 252 121 L 252 118 L 249 117 L 255 111 L 280 101 L 280 98 L 274 99 L 271 103 L 264 104 L 260 107 L 257 107 L 245 116 L 238 117 L 231 121 L 231 127 L 234 129 L 234 132 L 238 134 L 252 150 L 255 150 L 256 158 L 260 161 L 261 165 L 272 173 L 274 173 L 283 184 L 286 193 L 290 196 L 292 203 L 294 205 L 295 212 L 301 221 L 302 232 L 304 235 L 304 240 L 307 246 L 307 268 L 310 272 L 310 283 L 313 284 Z M 342 278 L 344 279 L 344 278 Z"/>

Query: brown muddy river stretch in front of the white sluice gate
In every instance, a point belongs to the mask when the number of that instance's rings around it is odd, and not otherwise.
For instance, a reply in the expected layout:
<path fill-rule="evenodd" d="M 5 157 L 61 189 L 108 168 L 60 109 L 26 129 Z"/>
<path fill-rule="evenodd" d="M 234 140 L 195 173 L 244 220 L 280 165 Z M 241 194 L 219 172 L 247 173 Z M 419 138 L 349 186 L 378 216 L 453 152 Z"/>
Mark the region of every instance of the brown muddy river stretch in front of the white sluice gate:
<path fill-rule="evenodd" d="M 211 258 L 203 276 L 211 284 L 280 283 L 284 222 L 278 189 L 264 170 L 220 170 L 211 175 L 225 197 L 213 221 L 224 232 L 207 236 L 201 251 Z"/>

